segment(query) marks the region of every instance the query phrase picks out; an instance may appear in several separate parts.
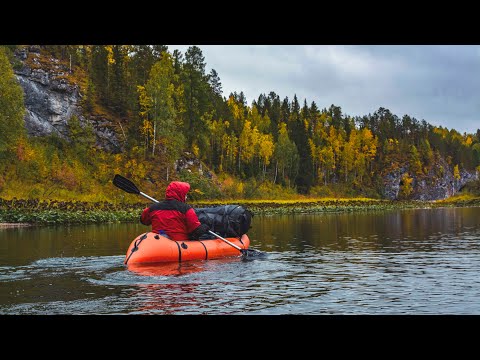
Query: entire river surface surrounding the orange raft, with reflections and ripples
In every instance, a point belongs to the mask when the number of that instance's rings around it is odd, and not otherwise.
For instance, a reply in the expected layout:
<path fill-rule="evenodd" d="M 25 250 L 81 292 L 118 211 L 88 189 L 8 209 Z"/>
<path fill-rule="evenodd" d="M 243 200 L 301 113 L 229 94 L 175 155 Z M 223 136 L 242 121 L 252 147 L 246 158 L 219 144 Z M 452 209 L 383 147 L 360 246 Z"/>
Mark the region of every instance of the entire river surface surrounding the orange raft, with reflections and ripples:
<path fill-rule="evenodd" d="M 263 259 L 127 270 L 145 229 L 0 229 L 0 314 L 480 314 L 480 208 L 255 216 Z"/>

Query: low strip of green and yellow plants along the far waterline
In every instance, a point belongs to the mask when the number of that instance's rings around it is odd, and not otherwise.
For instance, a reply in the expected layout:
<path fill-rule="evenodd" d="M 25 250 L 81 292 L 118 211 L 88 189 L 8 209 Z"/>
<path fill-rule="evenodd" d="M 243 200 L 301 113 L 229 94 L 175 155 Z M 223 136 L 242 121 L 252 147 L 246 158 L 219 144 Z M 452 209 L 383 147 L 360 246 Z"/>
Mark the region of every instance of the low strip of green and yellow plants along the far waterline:
<path fill-rule="evenodd" d="M 480 198 L 459 196 L 442 201 L 390 201 L 367 198 L 300 200 L 228 200 L 191 202 L 194 208 L 236 204 L 254 215 L 341 213 L 399 209 L 480 206 Z M 86 203 L 0 199 L 0 228 L 48 224 L 95 224 L 139 221 L 149 203 Z"/>

